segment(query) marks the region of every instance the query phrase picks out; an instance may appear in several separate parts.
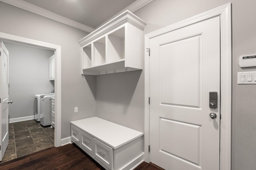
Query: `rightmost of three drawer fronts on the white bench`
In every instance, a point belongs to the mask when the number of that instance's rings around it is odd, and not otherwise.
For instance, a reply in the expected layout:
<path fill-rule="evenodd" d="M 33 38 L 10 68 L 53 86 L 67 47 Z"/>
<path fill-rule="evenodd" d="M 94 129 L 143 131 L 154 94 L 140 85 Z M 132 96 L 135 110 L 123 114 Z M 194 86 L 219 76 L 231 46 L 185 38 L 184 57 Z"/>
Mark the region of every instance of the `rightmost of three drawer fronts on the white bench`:
<path fill-rule="evenodd" d="M 109 169 L 113 166 L 113 149 L 101 143 L 97 139 L 94 139 L 95 145 L 95 158 L 98 159 L 102 164 L 104 164 Z"/>

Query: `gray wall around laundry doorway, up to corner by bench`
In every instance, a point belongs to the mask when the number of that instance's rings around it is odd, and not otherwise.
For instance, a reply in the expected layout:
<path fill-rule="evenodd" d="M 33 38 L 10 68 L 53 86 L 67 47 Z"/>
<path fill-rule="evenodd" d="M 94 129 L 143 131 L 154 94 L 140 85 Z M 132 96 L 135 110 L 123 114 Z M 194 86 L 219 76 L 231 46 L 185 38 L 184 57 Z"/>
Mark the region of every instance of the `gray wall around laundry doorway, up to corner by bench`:
<path fill-rule="evenodd" d="M 0 2 L 0 23 L 0 32 L 61 46 L 61 138 L 70 137 L 70 121 L 95 115 L 91 91 L 95 81 L 88 84 L 80 70 L 82 53 L 78 41 L 88 33 L 4 2 Z M 78 107 L 78 113 L 74 113 L 74 107 Z"/>

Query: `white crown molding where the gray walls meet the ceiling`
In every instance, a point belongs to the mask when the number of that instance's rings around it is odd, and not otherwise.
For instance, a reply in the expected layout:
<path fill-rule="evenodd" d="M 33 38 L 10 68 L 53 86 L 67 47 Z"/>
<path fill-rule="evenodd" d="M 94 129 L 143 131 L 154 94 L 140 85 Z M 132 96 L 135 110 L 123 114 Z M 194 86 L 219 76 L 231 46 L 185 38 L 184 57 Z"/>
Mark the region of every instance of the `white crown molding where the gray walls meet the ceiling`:
<path fill-rule="evenodd" d="M 74 21 L 74 20 L 70 20 L 66 17 L 60 16 L 58 14 L 55 14 L 54 12 L 50 12 L 48 10 L 45 10 L 43 8 L 40 8 L 38 6 L 35 6 L 35 5 L 30 4 L 28 2 L 25 2 L 23 0 L 0 0 L 0 1 L 5 2 L 7 4 L 10 4 L 10 5 L 13 5 L 13 6 L 16 6 L 18 8 L 22 8 L 22 9 L 27 10 L 27 11 L 33 12 L 35 14 L 44 16 L 46 18 L 50 18 L 52 20 L 59 21 L 59 22 L 64 23 L 66 25 L 70 25 L 72 27 L 82 29 L 82 30 L 87 31 L 89 33 L 91 33 L 92 31 L 95 30 L 92 27 L 89 27 L 87 25 L 84 25 L 84 24 L 79 23 L 79 22 Z M 151 1 L 153 1 L 153 0 L 136 0 L 134 3 L 132 3 L 130 6 L 126 7 L 124 10 L 119 12 L 117 15 L 121 14 L 122 12 L 124 12 L 126 10 L 130 10 L 131 12 L 134 12 L 134 11 L 142 8 L 143 6 L 145 6 L 146 4 L 148 4 Z M 112 17 L 112 18 L 114 18 L 114 17 Z M 110 18 L 110 20 L 112 18 Z"/>

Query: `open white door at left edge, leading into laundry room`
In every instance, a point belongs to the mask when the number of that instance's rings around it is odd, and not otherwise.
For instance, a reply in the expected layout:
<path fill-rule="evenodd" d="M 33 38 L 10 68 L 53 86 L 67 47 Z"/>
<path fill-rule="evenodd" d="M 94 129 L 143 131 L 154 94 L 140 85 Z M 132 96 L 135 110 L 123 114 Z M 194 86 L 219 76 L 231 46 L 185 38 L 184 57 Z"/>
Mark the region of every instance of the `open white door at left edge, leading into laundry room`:
<path fill-rule="evenodd" d="M 0 44 L 0 160 L 4 156 L 4 152 L 9 143 L 9 79 L 8 79 L 8 57 L 9 52 L 1 41 Z"/>

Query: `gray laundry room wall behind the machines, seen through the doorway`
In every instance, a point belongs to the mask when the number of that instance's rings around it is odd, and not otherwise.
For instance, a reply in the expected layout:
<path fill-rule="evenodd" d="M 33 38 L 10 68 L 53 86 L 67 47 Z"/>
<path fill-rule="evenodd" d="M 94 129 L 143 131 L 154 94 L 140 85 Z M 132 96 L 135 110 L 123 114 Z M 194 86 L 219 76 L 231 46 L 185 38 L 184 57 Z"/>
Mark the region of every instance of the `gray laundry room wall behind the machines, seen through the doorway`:
<path fill-rule="evenodd" d="M 50 93 L 54 81 L 49 81 L 48 58 L 54 51 L 8 43 L 10 119 L 34 115 L 34 95 Z"/>

